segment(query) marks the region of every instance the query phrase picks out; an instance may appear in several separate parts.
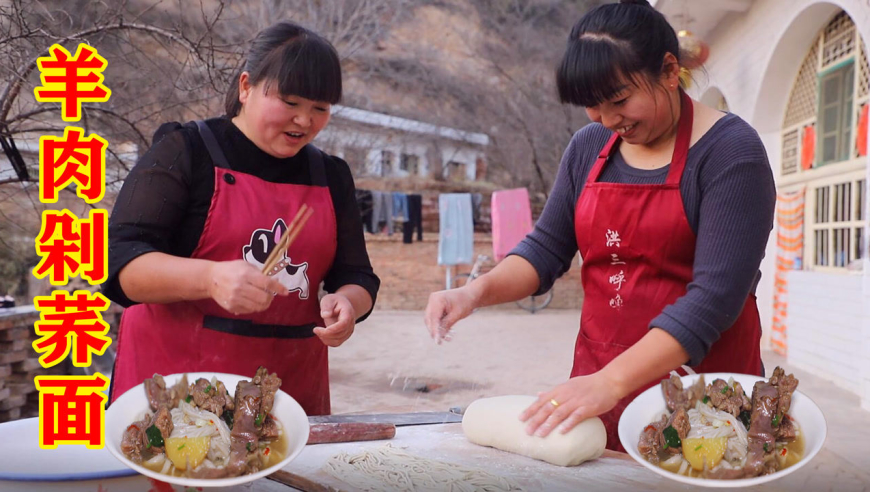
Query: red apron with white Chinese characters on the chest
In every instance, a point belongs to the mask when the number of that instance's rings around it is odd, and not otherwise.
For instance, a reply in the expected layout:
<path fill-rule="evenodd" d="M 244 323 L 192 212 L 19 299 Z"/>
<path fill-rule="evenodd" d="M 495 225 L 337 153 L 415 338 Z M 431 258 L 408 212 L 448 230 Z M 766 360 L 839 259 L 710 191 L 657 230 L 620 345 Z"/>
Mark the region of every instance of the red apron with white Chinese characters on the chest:
<path fill-rule="evenodd" d="M 649 332 L 665 306 L 692 281 L 695 234 L 680 196 L 692 134 L 692 100 L 681 92 L 682 110 L 668 177 L 661 185 L 599 183 L 619 142 L 614 134 L 589 172 L 575 210 L 577 245 L 583 256 L 585 298 L 571 377 L 592 374 Z M 761 374 L 761 324 L 750 295 L 734 324 L 713 345 L 697 372 Z M 600 415 L 607 448 L 624 451 L 617 424 L 625 407 L 650 383 Z"/>

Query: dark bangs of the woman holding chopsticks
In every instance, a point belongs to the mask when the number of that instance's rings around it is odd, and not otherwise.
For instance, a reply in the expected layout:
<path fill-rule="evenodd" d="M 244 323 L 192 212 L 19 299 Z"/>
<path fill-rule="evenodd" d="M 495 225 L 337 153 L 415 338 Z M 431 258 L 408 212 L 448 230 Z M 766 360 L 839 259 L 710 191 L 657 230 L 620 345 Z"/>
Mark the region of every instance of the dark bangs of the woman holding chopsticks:
<path fill-rule="evenodd" d="M 266 89 L 276 81 L 282 96 L 299 96 L 312 101 L 336 104 L 341 100 L 341 62 L 338 53 L 325 40 L 302 35 L 269 53 L 262 74 Z"/>

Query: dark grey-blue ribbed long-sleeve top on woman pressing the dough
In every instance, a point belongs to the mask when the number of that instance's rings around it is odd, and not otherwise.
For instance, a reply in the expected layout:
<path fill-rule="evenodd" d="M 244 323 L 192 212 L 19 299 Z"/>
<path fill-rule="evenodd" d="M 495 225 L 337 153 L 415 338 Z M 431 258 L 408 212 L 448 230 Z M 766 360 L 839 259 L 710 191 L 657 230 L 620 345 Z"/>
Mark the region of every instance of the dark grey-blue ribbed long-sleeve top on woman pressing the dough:
<path fill-rule="evenodd" d="M 610 135 L 600 124 L 574 134 L 534 231 L 511 252 L 535 267 L 541 280 L 539 293 L 553 286 L 577 253 L 574 209 Z M 615 152 L 599 180 L 661 184 L 669 168 L 633 168 Z M 690 363 L 697 365 L 755 291 L 773 228 L 776 187 L 756 131 L 733 114 L 717 121 L 689 149 L 680 194 L 697 237 L 693 278 L 686 294 L 666 306 L 650 327 L 670 333 L 689 353 Z"/>

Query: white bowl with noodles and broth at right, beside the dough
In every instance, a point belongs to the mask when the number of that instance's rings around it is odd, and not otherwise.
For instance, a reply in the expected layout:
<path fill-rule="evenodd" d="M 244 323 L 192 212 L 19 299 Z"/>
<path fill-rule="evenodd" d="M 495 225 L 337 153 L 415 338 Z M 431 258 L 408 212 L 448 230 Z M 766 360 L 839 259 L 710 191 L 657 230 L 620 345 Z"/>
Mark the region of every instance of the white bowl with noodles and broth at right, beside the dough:
<path fill-rule="evenodd" d="M 730 394 L 732 396 L 736 394 L 733 391 L 735 388 L 734 383 L 739 383 L 750 402 L 752 402 L 755 383 L 757 381 L 769 381 L 765 378 L 747 374 L 693 374 L 680 378 L 683 388 L 691 388 L 698 382 L 698 379 L 701 376 L 704 377 L 704 383 L 707 388 L 709 388 L 716 380 L 725 381 L 725 387 L 723 387 L 722 390 L 727 394 L 729 391 L 728 388 L 731 388 Z M 793 430 L 796 429 L 797 437 L 788 442 L 777 440 L 775 449 L 770 449 L 769 446 L 764 448 L 765 454 L 772 453 L 773 459 L 776 460 L 776 471 L 773 473 L 752 476 L 751 478 L 730 479 L 724 477 L 705 478 L 703 476 L 708 472 L 708 470 L 717 470 L 723 472 L 723 475 L 727 475 L 728 472 L 723 470 L 724 468 L 740 469 L 740 461 L 736 460 L 735 455 L 740 449 L 742 449 L 739 444 L 743 441 L 740 440 L 738 435 L 742 435 L 742 438 L 746 439 L 747 434 L 749 433 L 749 429 L 746 428 L 747 424 L 742 423 L 743 419 L 739 415 L 733 419 L 726 419 L 723 414 L 718 413 L 725 412 L 723 408 L 713 407 L 712 403 L 708 403 L 710 402 L 710 398 L 707 396 L 709 391 L 704 392 L 706 401 L 701 399 L 692 407 L 692 409 L 689 410 L 689 412 L 687 412 L 689 415 L 689 421 L 692 422 L 693 426 L 695 426 L 695 432 L 690 431 L 687 438 L 682 440 L 680 443 L 681 447 L 679 455 L 674 454 L 668 460 L 660 459 L 658 463 L 653 463 L 648 459 L 650 456 L 648 447 L 645 448 L 647 450 L 646 456 L 639 450 L 641 436 L 647 432 L 654 434 L 656 429 L 654 427 L 650 429 L 650 427 L 656 422 L 662 422 L 661 419 L 663 416 L 667 416 L 670 419 L 671 415 L 675 413 L 668 409 L 661 384 L 657 384 L 644 391 L 626 407 L 622 417 L 619 419 L 619 440 L 628 454 L 630 454 L 638 463 L 663 477 L 678 482 L 699 487 L 723 488 L 749 487 L 770 482 L 793 473 L 809 463 L 809 461 L 818 454 L 825 443 L 825 437 L 827 435 L 825 417 L 822 415 L 822 411 L 819 409 L 818 405 L 816 405 L 815 402 L 804 393 L 801 393 L 799 388 L 800 386 L 798 384 L 798 389 L 796 389 L 791 396 L 791 405 L 787 411 L 788 419 L 791 420 L 788 424 L 793 427 Z M 737 413 L 737 410 L 733 413 Z M 742 414 L 742 411 L 740 414 Z M 715 418 L 717 415 L 723 416 L 723 418 Z M 786 417 L 783 416 L 780 416 L 779 418 L 774 416 L 772 423 L 777 426 L 782 425 L 780 422 L 785 418 Z M 663 424 L 659 424 L 659 427 L 662 425 Z M 740 432 L 738 432 L 740 429 L 728 430 L 737 425 L 742 425 L 744 429 Z M 719 429 L 722 429 L 722 432 L 718 432 Z M 661 429 L 658 430 L 661 431 L 661 434 L 663 435 L 662 439 L 665 440 L 664 447 L 666 449 L 668 438 L 672 437 L 673 434 L 668 434 Z M 665 430 L 667 430 L 667 428 L 665 428 Z M 699 433 L 701 436 L 722 436 L 724 434 L 724 437 L 714 437 L 711 439 L 709 437 L 699 437 Z M 691 445 L 687 446 L 686 443 Z M 721 446 L 723 444 L 726 446 L 726 449 L 730 448 L 726 451 L 728 454 L 725 454 L 724 458 L 722 455 L 719 455 L 718 460 L 715 461 L 716 466 L 709 467 L 710 463 L 714 463 L 716 455 L 722 452 Z M 676 453 L 674 448 L 672 448 L 672 450 Z M 686 456 L 684 456 L 684 453 Z M 734 460 L 733 465 L 727 462 L 729 455 L 731 456 L 731 459 Z M 661 453 L 659 456 L 667 456 L 667 454 Z M 676 456 L 679 456 L 679 458 Z M 771 462 L 768 461 L 768 463 Z M 739 475 L 739 472 L 735 472 L 735 474 Z"/>

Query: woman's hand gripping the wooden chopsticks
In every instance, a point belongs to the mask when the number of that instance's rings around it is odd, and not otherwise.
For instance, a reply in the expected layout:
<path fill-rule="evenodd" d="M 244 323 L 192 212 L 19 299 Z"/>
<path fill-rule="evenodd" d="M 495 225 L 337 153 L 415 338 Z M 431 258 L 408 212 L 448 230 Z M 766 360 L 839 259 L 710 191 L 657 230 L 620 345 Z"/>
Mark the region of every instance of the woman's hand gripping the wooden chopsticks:
<path fill-rule="evenodd" d="M 265 311 L 276 295 L 286 296 L 289 292 L 276 278 L 266 276 L 254 265 L 234 260 L 212 264 L 208 294 L 227 311 L 247 314 Z"/>

